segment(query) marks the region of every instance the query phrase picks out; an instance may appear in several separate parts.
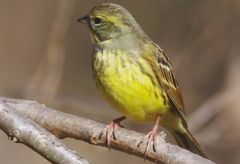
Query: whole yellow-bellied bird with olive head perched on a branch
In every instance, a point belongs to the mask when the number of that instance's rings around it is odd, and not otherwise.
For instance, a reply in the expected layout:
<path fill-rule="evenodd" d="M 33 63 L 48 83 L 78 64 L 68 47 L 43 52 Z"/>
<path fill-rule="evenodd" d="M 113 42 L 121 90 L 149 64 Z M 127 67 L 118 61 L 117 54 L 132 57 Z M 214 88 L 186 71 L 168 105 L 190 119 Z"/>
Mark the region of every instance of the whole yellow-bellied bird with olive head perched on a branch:
<path fill-rule="evenodd" d="M 141 140 L 156 147 L 158 125 L 167 129 L 180 147 L 204 158 L 207 155 L 188 130 L 182 93 L 166 54 L 141 29 L 123 7 L 103 3 L 79 22 L 87 24 L 93 42 L 92 70 L 106 101 L 123 116 L 102 131 L 110 135 L 128 118 L 135 122 L 156 121 Z"/>

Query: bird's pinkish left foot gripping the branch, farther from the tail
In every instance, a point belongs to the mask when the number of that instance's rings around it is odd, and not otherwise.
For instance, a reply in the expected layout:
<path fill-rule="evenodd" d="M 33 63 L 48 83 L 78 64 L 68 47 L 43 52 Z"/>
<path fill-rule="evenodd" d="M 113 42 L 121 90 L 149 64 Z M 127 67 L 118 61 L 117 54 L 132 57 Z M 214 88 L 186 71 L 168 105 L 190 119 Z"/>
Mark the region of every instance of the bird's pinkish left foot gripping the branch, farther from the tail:
<path fill-rule="evenodd" d="M 126 119 L 126 117 L 122 116 L 122 117 L 119 117 L 119 118 L 113 120 L 100 133 L 99 138 L 101 138 L 101 136 L 103 134 L 106 134 L 106 138 L 107 138 L 106 140 L 107 140 L 109 150 L 110 150 L 110 135 L 113 135 L 114 140 L 116 140 L 116 134 L 115 134 L 116 129 L 119 126 L 123 127 L 122 125 L 120 125 L 120 122 L 124 119 Z"/>

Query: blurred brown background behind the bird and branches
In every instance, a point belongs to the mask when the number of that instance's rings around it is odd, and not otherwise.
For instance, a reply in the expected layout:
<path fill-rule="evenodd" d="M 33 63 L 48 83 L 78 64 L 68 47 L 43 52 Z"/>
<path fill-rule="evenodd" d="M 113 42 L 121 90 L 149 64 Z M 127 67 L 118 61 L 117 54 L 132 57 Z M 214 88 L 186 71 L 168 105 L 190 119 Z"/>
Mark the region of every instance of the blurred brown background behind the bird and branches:
<path fill-rule="evenodd" d="M 95 87 L 89 31 L 76 21 L 102 2 L 1 0 L 0 96 L 33 99 L 105 123 L 119 117 Z M 209 158 L 220 164 L 238 163 L 240 1 L 111 2 L 128 9 L 171 59 L 189 128 Z M 122 124 L 147 133 L 154 123 L 126 120 Z M 142 158 L 82 141 L 64 142 L 93 163 L 144 163 Z M 175 144 L 169 133 L 167 142 Z M 30 148 L 8 140 L 2 131 L 0 159 L 2 164 L 49 163 Z"/>

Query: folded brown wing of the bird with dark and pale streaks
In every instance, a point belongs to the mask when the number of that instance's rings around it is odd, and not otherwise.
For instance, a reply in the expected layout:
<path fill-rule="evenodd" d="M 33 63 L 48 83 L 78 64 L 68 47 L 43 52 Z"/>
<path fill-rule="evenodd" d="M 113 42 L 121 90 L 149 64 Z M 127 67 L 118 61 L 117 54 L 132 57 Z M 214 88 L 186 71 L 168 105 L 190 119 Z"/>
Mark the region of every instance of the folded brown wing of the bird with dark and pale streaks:
<path fill-rule="evenodd" d="M 155 43 L 153 44 L 158 50 L 156 57 L 159 65 L 159 83 L 162 85 L 185 121 L 186 114 L 184 111 L 183 97 L 172 64 L 163 50 Z"/>

